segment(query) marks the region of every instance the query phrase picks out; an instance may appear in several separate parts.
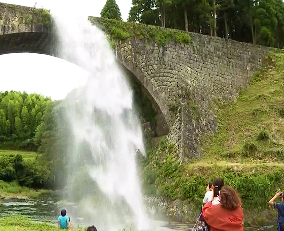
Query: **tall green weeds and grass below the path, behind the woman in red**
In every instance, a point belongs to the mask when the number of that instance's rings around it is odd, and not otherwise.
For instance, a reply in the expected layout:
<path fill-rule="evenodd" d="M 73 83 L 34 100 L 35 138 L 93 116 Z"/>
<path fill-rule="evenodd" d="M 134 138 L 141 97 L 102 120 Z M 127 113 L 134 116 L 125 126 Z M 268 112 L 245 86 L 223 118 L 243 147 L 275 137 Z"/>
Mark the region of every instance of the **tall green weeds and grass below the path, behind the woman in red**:
<path fill-rule="evenodd" d="M 255 152 L 251 143 L 244 152 Z M 273 166 L 273 168 L 272 168 Z M 268 208 L 268 200 L 278 190 L 284 190 L 284 165 L 228 163 L 204 160 L 181 164 L 172 143 L 164 139 L 148 153 L 143 167 L 143 184 L 147 194 L 163 196 L 169 200 L 182 199 L 202 205 L 205 188 L 215 177 L 237 189 L 247 211 Z"/>

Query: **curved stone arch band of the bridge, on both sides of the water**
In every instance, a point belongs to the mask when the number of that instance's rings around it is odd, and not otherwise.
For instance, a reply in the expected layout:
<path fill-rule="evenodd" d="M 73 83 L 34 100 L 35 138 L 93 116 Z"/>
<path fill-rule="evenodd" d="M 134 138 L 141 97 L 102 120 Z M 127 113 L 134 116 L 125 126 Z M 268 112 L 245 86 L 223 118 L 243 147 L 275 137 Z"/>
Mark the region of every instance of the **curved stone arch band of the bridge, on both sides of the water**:
<path fill-rule="evenodd" d="M 39 31 L 40 32 L 14 32 L 0 35 L 0 54 L 29 52 L 57 57 L 56 46 L 54 46 L 54 44 L 56 44 L 56 37 L 48 31 Z M 154 128 L 156 135 L 167 135 L 169 133 L 169 118 L 166 113 L 168 109 L 165 106 L 164 108 L 161 106 L 162 96 L 160 93 L 128 59 L 117 55 L 117 61 L 135 76 L 137 82 L 142 86 L 143 92 L 150 99 L 156 110 L 157 124 Z"/>

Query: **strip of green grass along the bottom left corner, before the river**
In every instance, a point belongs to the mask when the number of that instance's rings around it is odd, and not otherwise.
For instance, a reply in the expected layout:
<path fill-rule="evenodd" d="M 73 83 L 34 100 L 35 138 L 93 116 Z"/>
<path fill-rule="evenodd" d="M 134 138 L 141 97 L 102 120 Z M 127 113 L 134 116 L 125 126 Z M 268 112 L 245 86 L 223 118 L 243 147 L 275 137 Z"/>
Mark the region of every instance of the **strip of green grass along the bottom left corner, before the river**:
<path fill-rule="evenodd" d="M 58 231 L 57 226 L 32 222 L 30 219 L 21 216 L 13 216 L 0 219 L 1 231 Z M 74 231 L 84 231 L 85 229 L 72 229 Z"/>

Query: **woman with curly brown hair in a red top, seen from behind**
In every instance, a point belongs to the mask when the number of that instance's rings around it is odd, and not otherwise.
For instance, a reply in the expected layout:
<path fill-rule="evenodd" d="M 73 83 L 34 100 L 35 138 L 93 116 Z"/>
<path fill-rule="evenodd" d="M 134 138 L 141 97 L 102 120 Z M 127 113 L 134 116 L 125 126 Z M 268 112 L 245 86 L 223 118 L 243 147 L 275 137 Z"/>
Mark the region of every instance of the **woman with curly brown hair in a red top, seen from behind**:
<path fill-rule="evenodd" d="M 211 231 L 243 231 L 243 209 L 238 193 L 230 186 L 220 191 L 220 204 L 207 202 L 202 210 Z"/>

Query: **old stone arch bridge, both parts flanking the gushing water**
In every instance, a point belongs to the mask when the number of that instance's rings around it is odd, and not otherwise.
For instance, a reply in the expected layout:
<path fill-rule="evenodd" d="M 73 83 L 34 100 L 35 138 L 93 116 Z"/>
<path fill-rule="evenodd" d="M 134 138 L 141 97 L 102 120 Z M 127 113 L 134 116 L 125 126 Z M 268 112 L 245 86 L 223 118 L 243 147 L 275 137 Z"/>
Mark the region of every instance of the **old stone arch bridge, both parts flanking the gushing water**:
<path fill-rule="evenodd" d="M 0 3 L 0 54 L 56 56 L 45 11 Z M 190 33 L 191 43 L 160 46 L 136 37 L 118 41 L 116 56 L 151 100 L 157 136 L 167 135 L 181 161 L 199 157 L 200 139 L 215 132 L 214 100 L 234 100 L 269 48 Z"/>

